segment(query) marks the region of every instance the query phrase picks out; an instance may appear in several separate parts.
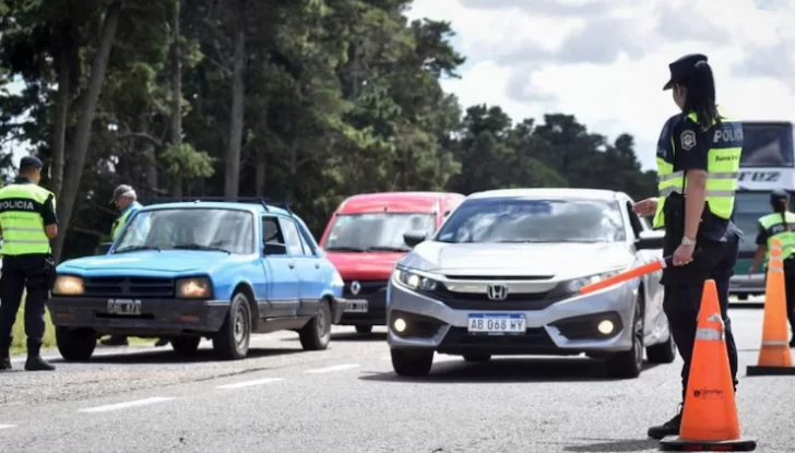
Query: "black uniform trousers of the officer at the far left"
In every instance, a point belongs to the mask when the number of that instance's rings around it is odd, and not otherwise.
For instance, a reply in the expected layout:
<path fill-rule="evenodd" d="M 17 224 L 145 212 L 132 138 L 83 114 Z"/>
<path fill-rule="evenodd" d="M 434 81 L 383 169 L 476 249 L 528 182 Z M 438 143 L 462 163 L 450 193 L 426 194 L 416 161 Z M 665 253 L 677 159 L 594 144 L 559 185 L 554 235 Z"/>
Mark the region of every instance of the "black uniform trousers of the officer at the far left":
<path fill-rule="evenodd" d="M 11 329 L 22 303 L 22 293 L 27 289 L 25 300 L 25 335 L 29 353 L 38 354 L 45 331 L 45 306 L 49 299 L 47 254 L 22 254 L 3 257 L 0 277 L 0 348 L 11 346 Z"/>

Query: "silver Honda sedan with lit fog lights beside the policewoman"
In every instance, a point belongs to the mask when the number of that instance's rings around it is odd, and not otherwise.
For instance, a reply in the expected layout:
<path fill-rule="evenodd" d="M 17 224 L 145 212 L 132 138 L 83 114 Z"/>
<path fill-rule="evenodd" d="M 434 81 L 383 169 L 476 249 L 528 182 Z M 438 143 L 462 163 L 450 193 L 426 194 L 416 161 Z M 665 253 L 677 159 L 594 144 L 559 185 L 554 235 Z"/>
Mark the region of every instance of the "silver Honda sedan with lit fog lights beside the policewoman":
<path fill-rule="evenodd" d="M 580 355 L 614 378 L 637 378 L 643 351 L 669 363 L 661 271 L 581 296 L 580 288 L 662 259 L 662 233 L 625 193 L 509 189 L 474 193 L 413 250 L 387 288 L 388 343 L 401 375 L 430 372 L 434 355 Z"/>

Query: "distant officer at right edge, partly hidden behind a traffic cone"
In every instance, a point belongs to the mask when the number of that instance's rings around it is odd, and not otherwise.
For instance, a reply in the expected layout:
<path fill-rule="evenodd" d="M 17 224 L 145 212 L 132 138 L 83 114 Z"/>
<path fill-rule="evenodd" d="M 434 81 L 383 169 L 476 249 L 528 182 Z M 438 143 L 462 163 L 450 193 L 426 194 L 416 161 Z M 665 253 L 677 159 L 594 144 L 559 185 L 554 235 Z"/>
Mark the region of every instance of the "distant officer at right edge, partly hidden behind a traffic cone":
<path fill-rule="evenodd" d="M 782 249 L 781 258 L 784 260 L 786 317 L 790 319 L 790 327 L 793 330 L 790 347 L 795 347 L 795 214 L 790 212 L 790 194 L 785 190 L 774 190 L 770 194 L 770 205 L 773 213 L 759 219 L 757 253 L 748 273 L 752 274 L 762 260 L 764 260 L 764 267 L 768 267 L 771 241 L 773 238 L 779 238 Z"/>

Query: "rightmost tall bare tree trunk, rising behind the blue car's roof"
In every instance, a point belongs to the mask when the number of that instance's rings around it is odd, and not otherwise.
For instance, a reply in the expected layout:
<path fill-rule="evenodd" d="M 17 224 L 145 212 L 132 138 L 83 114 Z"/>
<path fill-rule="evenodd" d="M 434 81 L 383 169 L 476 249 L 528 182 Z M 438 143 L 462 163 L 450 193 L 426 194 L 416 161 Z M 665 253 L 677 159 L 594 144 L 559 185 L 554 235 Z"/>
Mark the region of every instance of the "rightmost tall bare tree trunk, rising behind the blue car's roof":
<path fill-rule="evenodd" d="M 246 13 L 247 0 L 238 0 L 235 27 L 235 56 L 232 72 L 232 118 L 229 145 L 226 153 L 225 196 L 237 196 L 240 189 L 240 146 L 244 126 L 244 70 L 246 69 Z"/>

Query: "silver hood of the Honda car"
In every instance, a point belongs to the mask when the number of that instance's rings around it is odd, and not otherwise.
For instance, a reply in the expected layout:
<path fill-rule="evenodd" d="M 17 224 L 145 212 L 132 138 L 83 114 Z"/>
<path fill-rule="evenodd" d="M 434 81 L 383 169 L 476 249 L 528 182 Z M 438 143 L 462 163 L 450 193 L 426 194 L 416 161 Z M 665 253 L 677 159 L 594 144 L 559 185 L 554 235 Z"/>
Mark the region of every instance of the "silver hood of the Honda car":
<path fill-rule="evenodd" d="M 400 265 L 447 275 L 592 275 L 632 265 L 627 243 L 446 243 L 425 241 Z"/>

